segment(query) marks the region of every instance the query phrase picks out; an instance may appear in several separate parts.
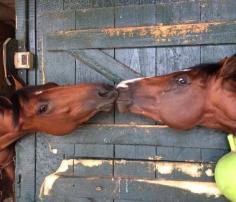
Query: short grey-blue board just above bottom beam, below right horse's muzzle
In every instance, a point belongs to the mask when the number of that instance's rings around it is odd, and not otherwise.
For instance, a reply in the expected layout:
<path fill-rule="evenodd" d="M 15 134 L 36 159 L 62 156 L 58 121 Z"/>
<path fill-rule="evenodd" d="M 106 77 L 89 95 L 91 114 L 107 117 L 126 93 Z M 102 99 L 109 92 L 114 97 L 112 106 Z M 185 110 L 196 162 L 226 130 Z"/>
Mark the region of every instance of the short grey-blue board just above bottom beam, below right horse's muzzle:
<path fill-rule="evenodd" d="M 115 177 L 155 178 L 155 162 L 152 161 L 114 161 Z"/>

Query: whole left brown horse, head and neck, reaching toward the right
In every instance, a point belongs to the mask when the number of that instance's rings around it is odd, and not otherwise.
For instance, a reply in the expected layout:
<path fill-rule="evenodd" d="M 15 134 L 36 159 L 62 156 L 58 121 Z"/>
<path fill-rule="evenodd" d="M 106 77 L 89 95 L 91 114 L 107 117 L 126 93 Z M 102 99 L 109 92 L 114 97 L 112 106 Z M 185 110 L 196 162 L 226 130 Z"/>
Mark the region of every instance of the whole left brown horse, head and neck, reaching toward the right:
<path fill-rule="evenodd" d="M 14 142 L 27 133 L 41 131 L 65 135 L 100 111 L 113 107 L 118 93 L 105 84 L 29 86 L 0 96 L 0 179 L 2 199 L 12 196 Z"/>

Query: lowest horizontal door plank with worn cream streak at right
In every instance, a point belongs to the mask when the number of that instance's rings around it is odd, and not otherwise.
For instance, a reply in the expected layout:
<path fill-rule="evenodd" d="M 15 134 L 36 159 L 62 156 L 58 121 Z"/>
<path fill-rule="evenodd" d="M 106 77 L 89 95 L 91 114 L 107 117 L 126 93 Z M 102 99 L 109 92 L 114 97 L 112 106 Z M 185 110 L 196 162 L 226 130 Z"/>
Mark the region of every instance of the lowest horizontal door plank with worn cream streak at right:
<path fill-rule="evenodd" d="M 67 190 L 66 194 L 64 190 Z M 71 178 L 59 177 L 50 189 L 47 199 L 54 196 L 70 199 L 80 196 L 96 199 L 144 201 L 227 201 L 212 182 L 190 182 L 139 178 Z"/>

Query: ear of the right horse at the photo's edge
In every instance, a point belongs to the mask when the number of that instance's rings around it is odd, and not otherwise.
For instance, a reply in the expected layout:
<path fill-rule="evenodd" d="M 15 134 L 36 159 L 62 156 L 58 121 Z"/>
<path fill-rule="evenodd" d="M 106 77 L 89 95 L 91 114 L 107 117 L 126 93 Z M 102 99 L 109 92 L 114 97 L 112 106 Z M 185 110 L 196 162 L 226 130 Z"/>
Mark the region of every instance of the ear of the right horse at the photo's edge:
<path fill-rule="evenodd" d="M 236 54 L 218 62 L 221 65 L 220 76 L 224 79 L 236 79 Z"/>

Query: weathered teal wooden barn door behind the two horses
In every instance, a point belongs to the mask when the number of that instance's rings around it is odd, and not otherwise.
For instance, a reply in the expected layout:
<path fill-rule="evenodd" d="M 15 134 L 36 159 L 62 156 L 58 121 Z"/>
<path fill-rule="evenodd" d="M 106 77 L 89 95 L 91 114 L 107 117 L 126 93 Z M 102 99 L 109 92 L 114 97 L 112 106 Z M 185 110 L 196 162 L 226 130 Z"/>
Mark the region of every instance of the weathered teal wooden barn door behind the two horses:
<path fill-rule="evenodd" d="M 25 8 L 37 68 L 22 74 L 31 84 L 115 84 L 236 52 L 234 0 L 37 0 Z M 215 130 L 177 132 L 114 109 L 65 137 L 21 140 L 17 201 L 227 201 L 213 177 L 227 152 Z"/>

